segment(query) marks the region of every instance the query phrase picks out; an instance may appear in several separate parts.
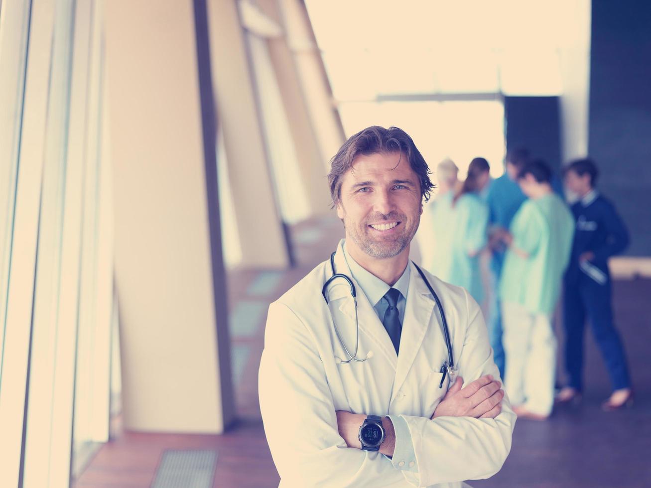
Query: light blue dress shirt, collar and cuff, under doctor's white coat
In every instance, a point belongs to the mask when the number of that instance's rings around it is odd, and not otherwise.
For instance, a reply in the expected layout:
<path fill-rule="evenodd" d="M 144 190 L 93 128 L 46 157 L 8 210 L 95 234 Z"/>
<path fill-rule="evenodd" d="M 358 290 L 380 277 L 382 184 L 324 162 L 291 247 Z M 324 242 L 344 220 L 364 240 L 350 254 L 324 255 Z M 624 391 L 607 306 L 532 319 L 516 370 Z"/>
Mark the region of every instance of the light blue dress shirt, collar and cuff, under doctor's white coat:
<path fill-rule="evenodd" d="M 361 265 L 357 264 L 357 262 L 350 257 L 350 254 L 348 254 L 345 242 L 343 249 L 346 264 L 348 264 L 348 267 L 350 268 L 350 274 L 359 285 L 359 288 L 361 288 L 363 293 L 366 295 L 370 304 L 373 305 L 380 321 L 384 318 L 384 313 L 387 311 L 387 307 L 389 306 L 389 303 L 383 298 L 384 295 L 390 288 L 395 288 L 400 291 L 400 295 L 402 296 L 398 299 L 398 317 L 400 318 L 400 323 L 403 323 L 405 306 L 407 305 L 407 292 L 409 291 L 409 274 L 411 273 L 409 264 L 402 273 L 402 276 L 398 278 L 398 281 L 396 281 L 393 287 L 391 287 L 380 278 L 361 267 Z M 402 340 L 402 335 L 400 337 Z M 409 433 L 407 421 L 398 415 L 389 415 L 389 419 L 393 423 L 393 429 L 396 433 L 396 445 L 393 450 L 391 463 L 396 469 L 417 473 L 418 463 L 416 462 L 416 454 L 413 450 L 413 442 L 411 441 L 411 433 Z M 400 465 L 400 463 L 402 463 L 402 465 Z M 409 466 L 411 463 L 413 463 L 413 467 Z"/>

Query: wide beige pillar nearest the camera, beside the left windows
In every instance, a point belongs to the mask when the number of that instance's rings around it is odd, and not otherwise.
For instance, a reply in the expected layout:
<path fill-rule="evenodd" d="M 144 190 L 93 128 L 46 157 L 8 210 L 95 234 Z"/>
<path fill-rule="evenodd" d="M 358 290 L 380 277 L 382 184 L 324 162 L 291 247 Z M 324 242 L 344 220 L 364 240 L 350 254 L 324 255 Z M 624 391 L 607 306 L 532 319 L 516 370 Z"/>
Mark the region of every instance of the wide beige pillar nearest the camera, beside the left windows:
<path fill-rule="evenodd" d="M 193 3 L 105 5 L 125 426 L 219 433 L 232 395 L 218 373 L 227 314 L 215 309 Z"/>

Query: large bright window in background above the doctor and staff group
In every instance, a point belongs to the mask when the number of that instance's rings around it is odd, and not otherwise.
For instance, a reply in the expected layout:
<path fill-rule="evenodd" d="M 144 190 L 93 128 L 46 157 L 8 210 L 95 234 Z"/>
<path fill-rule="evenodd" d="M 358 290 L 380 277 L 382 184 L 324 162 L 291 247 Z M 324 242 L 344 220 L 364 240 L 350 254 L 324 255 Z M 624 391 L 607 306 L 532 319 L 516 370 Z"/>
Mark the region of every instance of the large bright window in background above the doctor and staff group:
<path fill-rule="evenodd" d="M 463 178 L 482 156 L 499 176 L 503 95 L 561 92 L 560 0 L 305 3 L 346 135 L 398 126 L 432 169 L 450 157 Z"/>

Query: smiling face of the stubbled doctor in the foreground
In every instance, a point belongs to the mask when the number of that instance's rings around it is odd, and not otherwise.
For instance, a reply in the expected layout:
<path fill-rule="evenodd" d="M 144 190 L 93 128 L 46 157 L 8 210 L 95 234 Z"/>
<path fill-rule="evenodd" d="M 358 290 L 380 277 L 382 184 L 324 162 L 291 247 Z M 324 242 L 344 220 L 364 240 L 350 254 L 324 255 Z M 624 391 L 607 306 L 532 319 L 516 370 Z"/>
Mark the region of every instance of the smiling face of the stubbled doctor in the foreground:
<path fill-rule="evenodd" d="M 357 156 L 342 176 L 337 215 L 346 240 L 372 258 L 393 258 L 409 246 L 421 221 L 418 175 L 399 152 Z"/>

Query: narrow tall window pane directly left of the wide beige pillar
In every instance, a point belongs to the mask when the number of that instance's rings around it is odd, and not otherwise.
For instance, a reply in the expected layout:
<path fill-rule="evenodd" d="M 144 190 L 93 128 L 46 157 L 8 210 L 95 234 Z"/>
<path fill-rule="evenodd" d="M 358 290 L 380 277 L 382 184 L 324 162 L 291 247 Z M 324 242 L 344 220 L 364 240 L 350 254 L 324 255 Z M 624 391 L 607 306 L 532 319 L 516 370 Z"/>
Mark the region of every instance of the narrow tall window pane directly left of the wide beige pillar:
<path fill-rule="evenodd" d="M 110 243 L 111 188 L 105 161 L 104 58 L 102 17 L 90 9 L 89 78 L 85 171 L 81 200 L 81 255 L 75 372 L 73 475 L 78 474 L 99 442 L 108 440 L 113 310 L 113 259 Z M 104 135 L 104 137 L 102 137 Z"/>

